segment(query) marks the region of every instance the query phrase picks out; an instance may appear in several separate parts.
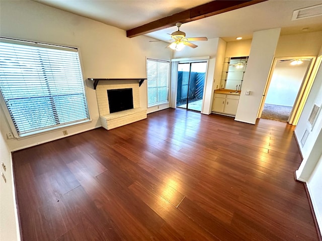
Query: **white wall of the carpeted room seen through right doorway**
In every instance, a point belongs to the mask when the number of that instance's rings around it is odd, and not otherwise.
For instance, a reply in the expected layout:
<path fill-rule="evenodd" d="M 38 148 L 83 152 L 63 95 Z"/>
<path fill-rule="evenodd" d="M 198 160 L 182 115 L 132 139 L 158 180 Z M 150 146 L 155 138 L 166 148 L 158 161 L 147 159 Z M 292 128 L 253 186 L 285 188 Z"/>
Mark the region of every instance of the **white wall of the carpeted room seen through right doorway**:
<path fill-rule="evenodd" d="M 310 61 L 290 65 L 290 61 L 277 62 L 266 95 L 266 104 L 293 106 Z"/>

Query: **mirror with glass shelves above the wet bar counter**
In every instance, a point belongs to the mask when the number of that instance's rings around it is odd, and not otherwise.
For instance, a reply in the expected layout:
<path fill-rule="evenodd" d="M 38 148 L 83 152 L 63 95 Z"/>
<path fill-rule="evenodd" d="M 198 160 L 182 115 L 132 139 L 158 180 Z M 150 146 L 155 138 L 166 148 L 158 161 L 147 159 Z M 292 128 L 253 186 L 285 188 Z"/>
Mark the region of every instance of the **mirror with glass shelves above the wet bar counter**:
<path fill-rule="evenodd" d="M 248 56 L 225 58 L 220 82 L 221 89 L 241 89 L 241 84 L 243 83 L 244 74 L 247 67 L 247 61 Z"/>

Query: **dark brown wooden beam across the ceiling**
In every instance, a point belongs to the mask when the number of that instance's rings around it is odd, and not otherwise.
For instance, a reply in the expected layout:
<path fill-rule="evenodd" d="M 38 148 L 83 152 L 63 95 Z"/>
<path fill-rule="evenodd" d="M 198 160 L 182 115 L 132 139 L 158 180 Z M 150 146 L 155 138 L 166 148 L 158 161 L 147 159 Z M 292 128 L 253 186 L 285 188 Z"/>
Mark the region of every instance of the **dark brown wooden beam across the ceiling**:
<path fill-rule="evenodd" d="M 128 38 L 136 37 L 139 35 L 151 33 L 154 31 L 167 29 L 176 26 L 176 23 L 188 23 L 195 20 L 207 18 L 213 15 L 222 14 L 231 10 L 244 8 L 253 4 L 265 2 L 267 0 L 215 0 L 207 4 L 197 6 L 192 9 L 182 11 L 180 13 L 155 20 L 148 24 L 136 27 L 126 31 Z"/>

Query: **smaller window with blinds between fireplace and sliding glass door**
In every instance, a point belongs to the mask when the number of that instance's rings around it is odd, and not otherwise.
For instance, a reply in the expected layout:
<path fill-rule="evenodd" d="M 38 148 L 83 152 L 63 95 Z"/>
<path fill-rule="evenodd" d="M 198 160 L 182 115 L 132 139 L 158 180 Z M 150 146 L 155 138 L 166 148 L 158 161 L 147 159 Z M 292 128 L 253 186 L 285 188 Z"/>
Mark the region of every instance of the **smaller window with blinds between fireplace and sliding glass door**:
<path fill-rule="evenodd" d="M 147 59 L 147 107 L 169 102 L 170 62 Z"/>

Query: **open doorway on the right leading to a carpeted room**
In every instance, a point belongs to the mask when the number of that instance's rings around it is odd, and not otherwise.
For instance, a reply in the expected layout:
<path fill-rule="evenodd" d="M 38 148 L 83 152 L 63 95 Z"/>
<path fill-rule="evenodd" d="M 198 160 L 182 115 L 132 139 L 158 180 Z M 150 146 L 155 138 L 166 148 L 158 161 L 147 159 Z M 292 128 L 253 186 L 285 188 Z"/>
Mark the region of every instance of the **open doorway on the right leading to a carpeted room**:
<path fill-rule="evenodd" d="M 292 123 L 298 109 L 314 57 L 276 58 L 262 99 L 260 118 Z"/>

